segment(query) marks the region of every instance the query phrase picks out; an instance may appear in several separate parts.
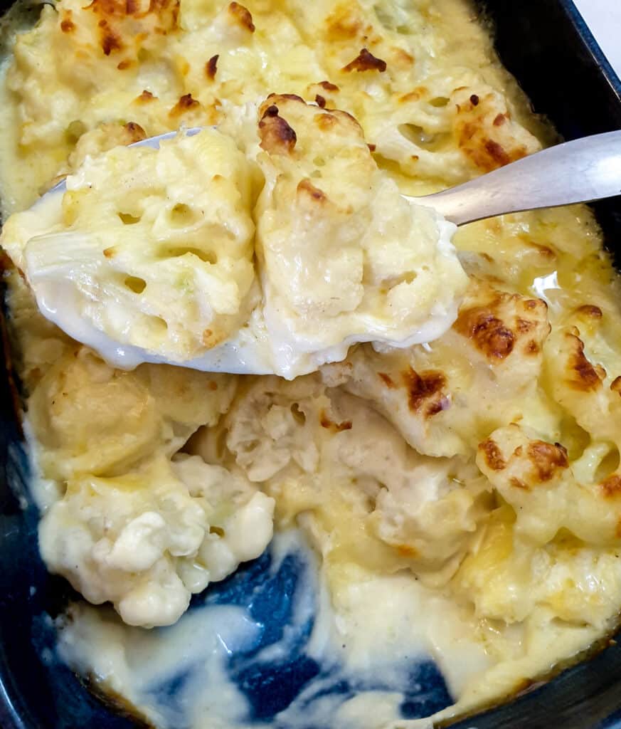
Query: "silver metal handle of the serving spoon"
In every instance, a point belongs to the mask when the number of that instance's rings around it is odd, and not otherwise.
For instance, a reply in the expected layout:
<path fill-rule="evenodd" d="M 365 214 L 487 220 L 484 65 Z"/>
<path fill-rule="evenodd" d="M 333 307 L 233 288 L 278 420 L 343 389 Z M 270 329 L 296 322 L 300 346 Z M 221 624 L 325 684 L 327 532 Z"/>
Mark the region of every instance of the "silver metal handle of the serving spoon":
<path fill-rule="evenodd" d="M 408 200 L 464 225 L 614 195 L 621 195 L 621 130 L 558 144 L 449 190 Z"/>

